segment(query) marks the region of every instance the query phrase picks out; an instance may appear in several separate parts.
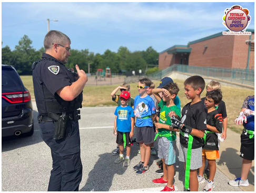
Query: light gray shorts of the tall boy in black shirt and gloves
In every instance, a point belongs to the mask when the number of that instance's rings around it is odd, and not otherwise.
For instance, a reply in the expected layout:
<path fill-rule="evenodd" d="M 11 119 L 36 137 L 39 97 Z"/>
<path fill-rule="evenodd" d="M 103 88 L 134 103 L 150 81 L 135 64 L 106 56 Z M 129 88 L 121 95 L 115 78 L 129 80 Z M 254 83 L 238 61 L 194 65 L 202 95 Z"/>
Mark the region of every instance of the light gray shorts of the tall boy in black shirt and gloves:
<path fill-rule="evenodd" d="M 186 162 L 187 150 L 188 148 L 185 148 L 180 144 L 179 160 L 181 162 Z M 198 169 L 201 167 L 202 167 L 202 147 L 198 149 L 191 149 L 190 169 Z"/>

